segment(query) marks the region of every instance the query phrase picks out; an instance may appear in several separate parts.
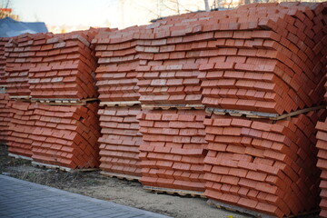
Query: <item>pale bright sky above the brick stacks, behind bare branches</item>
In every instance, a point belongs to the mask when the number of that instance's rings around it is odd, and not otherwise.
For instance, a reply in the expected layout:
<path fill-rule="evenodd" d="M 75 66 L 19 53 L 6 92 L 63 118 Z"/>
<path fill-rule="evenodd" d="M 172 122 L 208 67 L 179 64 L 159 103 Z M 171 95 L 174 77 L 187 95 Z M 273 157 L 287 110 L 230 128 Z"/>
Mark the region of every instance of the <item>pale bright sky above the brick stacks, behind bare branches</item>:
<path fill-rule="evenodd" d="M 19 15 L 20 20 L 25 22 L 40 21 L 48 26 L 125 28 L 146 25 L 158 18 L 157 5 L 160 2 L 174 3 L 168 0 L 10 0 L 10 7 L 13 14 Z M 203 0 L 179 0 L 179 3 L 181 10 L 187 5 L 188 9 L 196 11 L 201 9 L 198 5 L 203 5 Z M 168 12 L 167 8 L 162 6 L 160 13 Z"/>

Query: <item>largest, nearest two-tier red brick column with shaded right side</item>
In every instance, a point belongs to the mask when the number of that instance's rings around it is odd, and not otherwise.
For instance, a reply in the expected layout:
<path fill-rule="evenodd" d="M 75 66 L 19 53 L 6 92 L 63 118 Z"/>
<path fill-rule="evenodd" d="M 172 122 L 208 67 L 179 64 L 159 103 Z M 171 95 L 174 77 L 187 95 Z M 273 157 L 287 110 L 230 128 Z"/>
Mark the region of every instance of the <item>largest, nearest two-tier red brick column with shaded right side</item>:
<path fill-rule="evenodd" d="M 217 48 L 203 52 L 200 65 L 203 104 L 253 114 L 322 104 L 324 7 L 283 3 L 244 5 L 221 17 L 217 12 L 219 22 L 212 25 Z M 205 195 L 278 217 L 315 209 L 314 125 L 325 116 L 315 111 L 272 123 L 213 114 L 204 122 Z"/>

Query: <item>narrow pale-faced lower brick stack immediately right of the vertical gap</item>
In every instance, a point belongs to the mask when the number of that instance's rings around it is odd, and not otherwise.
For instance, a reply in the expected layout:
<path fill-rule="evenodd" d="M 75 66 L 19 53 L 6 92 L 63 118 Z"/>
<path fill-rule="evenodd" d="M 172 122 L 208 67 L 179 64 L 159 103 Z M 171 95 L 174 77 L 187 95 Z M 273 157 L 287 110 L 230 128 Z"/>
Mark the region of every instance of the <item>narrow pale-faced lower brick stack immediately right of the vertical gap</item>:
<path fill-rule="evenodd" d="M 103 172 L 141 177 L 139 147 L 142 134 L 136 115 L 141 106 L 105 107 L 99 110 L 102 136 L 100 169 Z"/>

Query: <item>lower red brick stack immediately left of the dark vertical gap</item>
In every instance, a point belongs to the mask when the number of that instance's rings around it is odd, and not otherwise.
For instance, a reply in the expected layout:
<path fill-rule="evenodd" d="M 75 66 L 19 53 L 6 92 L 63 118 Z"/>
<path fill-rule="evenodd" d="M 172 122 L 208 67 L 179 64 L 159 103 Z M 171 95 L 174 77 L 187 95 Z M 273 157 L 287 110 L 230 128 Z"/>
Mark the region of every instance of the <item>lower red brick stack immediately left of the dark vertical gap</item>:
<path fill-rule="evenodd" d="M 32 158 L 67 168 L 94 168 L 99 165 L 100 136 L 98 104 L 54 106 L 35 104 L 34 130 L 29 138 Z"/>

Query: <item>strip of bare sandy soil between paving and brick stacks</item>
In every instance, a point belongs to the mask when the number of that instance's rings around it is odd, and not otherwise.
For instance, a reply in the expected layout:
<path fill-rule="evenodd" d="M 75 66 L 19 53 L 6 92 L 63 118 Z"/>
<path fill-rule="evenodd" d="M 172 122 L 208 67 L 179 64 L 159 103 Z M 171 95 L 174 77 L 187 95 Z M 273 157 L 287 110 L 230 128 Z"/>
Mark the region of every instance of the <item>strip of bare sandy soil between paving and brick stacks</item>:
<path fill-rule="evenodd" d="M 141 183 L 106 177 L 99 172 L 65 173 L 37 168 L 29 161 L 8 157 L 3 145 L 0 145 L 0 173 L 176 218 L 251 217 L 211 207 L 202 198 L 151 193 Z"/>

